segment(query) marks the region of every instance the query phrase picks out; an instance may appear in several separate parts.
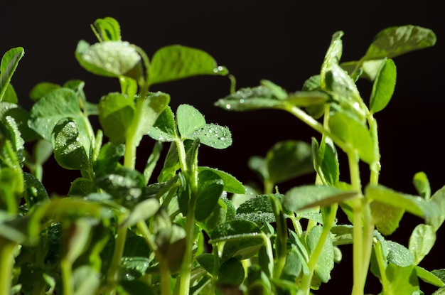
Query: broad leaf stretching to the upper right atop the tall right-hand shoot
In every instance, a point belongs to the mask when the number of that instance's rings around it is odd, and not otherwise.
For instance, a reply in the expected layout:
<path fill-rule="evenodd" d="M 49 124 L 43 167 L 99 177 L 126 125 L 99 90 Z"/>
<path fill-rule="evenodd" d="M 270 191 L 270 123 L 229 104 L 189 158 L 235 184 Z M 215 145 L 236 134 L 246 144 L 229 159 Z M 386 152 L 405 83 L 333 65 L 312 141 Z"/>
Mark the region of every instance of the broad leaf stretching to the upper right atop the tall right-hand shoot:
<path fill-rule="evenodd" d="M 362 60 L 394 58 L 410 51 L 428 48 L 436 43 L 436 35 L 420 26 L 393 26 L 377 33 Z"/>

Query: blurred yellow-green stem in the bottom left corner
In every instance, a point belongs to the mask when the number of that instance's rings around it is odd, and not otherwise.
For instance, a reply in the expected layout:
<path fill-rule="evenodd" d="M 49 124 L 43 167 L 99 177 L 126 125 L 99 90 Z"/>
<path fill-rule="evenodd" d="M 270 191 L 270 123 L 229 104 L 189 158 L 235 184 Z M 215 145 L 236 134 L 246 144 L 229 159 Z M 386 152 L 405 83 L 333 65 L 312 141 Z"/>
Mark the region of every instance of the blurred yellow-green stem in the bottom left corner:
<path fill-rule="evenodd" d="M 12 271 L 16 243 L 0 237 L 0 295 L 11 294 Z"/>

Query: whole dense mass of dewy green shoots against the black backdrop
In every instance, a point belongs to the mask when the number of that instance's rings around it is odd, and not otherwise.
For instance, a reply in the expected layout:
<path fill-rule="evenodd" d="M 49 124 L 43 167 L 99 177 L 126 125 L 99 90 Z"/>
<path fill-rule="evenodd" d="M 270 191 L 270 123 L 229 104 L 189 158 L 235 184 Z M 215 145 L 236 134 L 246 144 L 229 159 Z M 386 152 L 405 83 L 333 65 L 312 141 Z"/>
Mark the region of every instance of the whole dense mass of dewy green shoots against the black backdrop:
<path fill-rule="evenodd" d="M 444 293 L 444 269 L 430 272 L 421 264 L 445 220 L 445 188 L 431 195 L 423 172 L 413 179 L 419 196 L 380 185 L 374 118 L 395 90 L 392 58 L 434 45 L 433 32 L 387 28 L 363 58 L 341 63 L 338 31 L 319 75 L 301 91 L 262 80 L 218 100 L 218 107 L 232 111 L 282 109 L 321 134 L 311 144 L 279 141 L 264 157 L 252 155 L 247 165 L 263 185 L 254 192 L 230 173 L 199 165 L 202 145 L 231 146 L 227 127 L 206 122 L 190 104 L 173 111 L 170 95 L 149 91 L 228 70 L 182 45 L 159 48 L 150 59 L 122 41 L 111 17 L 91 28 L 98 42 L 80 41 L 75 58 L 121 87 L 97 104 L 88 102 L 81 80 L 40 82 L 28 112 L 10 84 L 23 48 L 1 59 L 1 295 L 311 294 L 330 281 L 347 244 L 353 245 L 352 294 L 364 293 L 368 269 L 381 294 L 422 294 L 419 281 Z M 368 104 L 355 84 L 360 78 L 373 83 Z M 136 148 L 143 139 L 154 146 L 139 171 Z M 164 144 L 169 147 L 153 180 Z M 341 179 L 338 151 L 348 158 L 348 181 Z M 50 156 L 80 173 L 67 195 L 48 193 L 41 182 Z M 360 161 L 370 168 L 365 186 Z M 309 173 L 314 183 L 279 193 L 279 185 Z M 337 218 L 339 209 L 345 222 Z M 386 238 L 404 213 L 424 220 L 406 247 Z"/>

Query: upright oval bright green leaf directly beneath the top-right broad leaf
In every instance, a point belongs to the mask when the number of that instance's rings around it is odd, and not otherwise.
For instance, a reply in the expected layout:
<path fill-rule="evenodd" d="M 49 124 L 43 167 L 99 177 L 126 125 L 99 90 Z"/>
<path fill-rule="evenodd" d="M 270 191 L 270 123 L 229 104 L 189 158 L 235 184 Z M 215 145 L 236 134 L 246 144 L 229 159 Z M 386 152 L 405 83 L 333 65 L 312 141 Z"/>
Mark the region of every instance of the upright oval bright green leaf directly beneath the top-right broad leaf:
<path fill-rule="evenodd" d="M 372 85 L 370 111 L 380 112 L 390 102 L 395 89 L 397 70 L 394 61 L 385 59 Z"/>

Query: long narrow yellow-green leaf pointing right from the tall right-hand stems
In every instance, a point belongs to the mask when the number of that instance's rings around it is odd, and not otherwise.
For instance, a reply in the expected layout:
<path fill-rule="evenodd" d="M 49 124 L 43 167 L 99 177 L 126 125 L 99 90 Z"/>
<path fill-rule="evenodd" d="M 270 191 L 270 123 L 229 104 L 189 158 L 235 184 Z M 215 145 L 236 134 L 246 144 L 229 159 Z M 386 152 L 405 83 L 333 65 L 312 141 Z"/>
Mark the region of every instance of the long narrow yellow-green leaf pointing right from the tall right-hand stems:
<path fill-rule="evenodd" d="M 421 218 L 437 218 L 439 216 L 439 208 L 433 203 L 415 195 L 397 193 L 385 186 L 367 186 L 365 195 L 370 200 L 377 200 L 380 203 L 401 208 Z"/>

